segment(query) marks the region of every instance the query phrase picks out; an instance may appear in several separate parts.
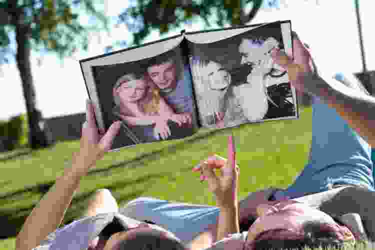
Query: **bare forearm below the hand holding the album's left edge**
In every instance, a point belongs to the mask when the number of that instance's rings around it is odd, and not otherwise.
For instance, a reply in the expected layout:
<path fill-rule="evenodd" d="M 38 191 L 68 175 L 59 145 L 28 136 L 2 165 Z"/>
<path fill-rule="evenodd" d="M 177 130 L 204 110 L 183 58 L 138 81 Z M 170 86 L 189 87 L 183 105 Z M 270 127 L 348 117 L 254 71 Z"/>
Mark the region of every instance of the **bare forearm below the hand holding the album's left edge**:
<path fill-rule="evenodd" d="M 42 197 L 26 218 L 16 237 L 16 250 L 36 247 L 61 223 L 82 174 L 69 168 Z"/>

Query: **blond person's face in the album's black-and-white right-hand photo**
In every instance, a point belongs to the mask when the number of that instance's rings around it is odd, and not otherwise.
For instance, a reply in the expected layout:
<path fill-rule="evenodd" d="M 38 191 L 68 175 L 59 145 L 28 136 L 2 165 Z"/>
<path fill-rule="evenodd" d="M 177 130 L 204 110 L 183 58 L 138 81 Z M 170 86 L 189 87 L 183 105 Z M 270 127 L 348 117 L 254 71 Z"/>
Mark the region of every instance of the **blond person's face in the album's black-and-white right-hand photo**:
<path fill-rule="evenodd" d="M 222 89 L 229 85 L 230 74 L 219 63 L 210 61 L 206 70 L 211 89 Z"/>

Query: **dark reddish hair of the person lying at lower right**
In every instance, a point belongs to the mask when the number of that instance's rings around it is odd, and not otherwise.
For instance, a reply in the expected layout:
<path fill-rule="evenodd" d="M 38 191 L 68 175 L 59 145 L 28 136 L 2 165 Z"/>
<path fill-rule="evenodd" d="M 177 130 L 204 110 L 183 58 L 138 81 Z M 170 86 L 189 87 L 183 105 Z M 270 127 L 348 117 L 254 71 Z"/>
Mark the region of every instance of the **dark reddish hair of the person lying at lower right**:
<path fill-rule="evenodd" d="M 333 248 L 333 249 L 342 249 L 345 245 L 352 243 L 352 240 L 341 240 L 337 238 L 337 235 L 331 231 L 324 229 L 324 224 L 320 221 L 307 221 L 303 225 L 304 236 L 298 239 L 281 239 L 281 238 L 272 238 L 272 235 L 266 238 L 261 238 L 254 240 L 252 243 L 253 249 L 256 250 L 265 250 L 265 249 L 304 249 L 304 247 L 317 248 L 321 247 L 322 249 Z M 272 233 L 277 235 L 277 232 L 282 231 L 283 229 L 275 229 L 262 232 L 257 236 L 261 237 L 265 233 Z"/>

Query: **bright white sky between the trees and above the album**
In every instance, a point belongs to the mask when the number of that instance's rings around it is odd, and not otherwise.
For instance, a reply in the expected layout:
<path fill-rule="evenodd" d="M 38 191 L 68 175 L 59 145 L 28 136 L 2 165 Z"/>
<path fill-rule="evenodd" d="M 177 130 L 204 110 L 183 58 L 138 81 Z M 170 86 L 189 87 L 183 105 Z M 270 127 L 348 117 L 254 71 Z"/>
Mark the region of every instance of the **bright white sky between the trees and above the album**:
<path fill-rule="evenodd" d="M 271 0 L 272 1 L 272 0 Z M 301 40 L 308 43 L 316 57 L 317 66 L 331 73 L 360 72 L 358 29 L 353 0 L 279 0 L 278 7 L 260 10 L 251 23 L 291 20 L 291 26 Z M 108 16 L 116 16 L 123 8 L 116 1 L 107 1 Z M 126 7 L 126 4 L 122 7 Z M 360 16 L 366 64 L 368 70 L 375 70 L 374 23 L 375 1 L 360 1 Z M 186 24 L 181 29 L 195 31 L 204 29 L 202 22 Z M 169 33 L 171 36 L 178 32 Z M 88 51 L 79 51 L 74 58 L 65 58 L 61 63 L 54 55 L 42 58 L 37 65 L 38 54 L 31 54 L 31 67 L 36 90 L 37 107 L 45 118 L 84 112 L 88 98 L 79 59 L 103 54 L 104 47 L 113 40 L 126 39 L 129 31 L 124 24 L 111 29 L 110 36 L 102 33 L 91 37 Z M 145 41 L 160 39 L 153 31 Z M 26 111 L 22 87 L 15 64 L 1 66 L 0 72 L 0 120 Z"/>

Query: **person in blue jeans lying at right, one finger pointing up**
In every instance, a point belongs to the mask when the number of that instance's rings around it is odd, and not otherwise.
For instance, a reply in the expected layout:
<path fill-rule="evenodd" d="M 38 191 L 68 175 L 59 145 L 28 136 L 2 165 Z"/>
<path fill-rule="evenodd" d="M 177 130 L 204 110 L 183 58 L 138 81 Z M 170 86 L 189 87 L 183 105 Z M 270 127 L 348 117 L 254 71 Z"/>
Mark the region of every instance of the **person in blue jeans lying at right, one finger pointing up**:
<path fill-rule="evenodd" d="M 293 48 L 294 61 L 277 50 L 272 52 L 273 59 L 288 70 L 298 90 L 313 95 L 313 113 L 309 160 L 290 186 L 259 190 L 237 203 L 230 186 L 236 173 L 215 176 L 212 168 L 230 166 L 225 160 L 206 159 L 207 164 L 201 165 L 208 187 L 216 193 L 216 207 L 140 197 L 121 207 L 120 213 L 162 225 L 181 238 L 195 231 L 190 237 L 194 238 L 192 249 L 302 249 L 375 241 L 373 162 L 368 143 L 374 142 L 371 109 L 375 110 L 375 98 L 367 96 L 350 76 L 337 74 L 341 85 L 336 86 L 318 75 L 316 66 L 315 70 L 309 67 L 311 55 L 295 34 Z M 220 193 L 226 195 L 219 198 Z M 345 225 L 343 217 L 349 213 L 359 214 L 364 233 Z M 181 225 L 185 233 L 180 232 Z"/>

